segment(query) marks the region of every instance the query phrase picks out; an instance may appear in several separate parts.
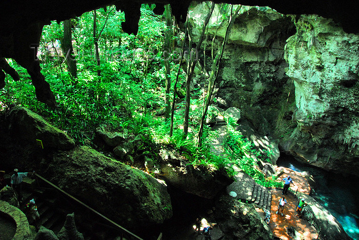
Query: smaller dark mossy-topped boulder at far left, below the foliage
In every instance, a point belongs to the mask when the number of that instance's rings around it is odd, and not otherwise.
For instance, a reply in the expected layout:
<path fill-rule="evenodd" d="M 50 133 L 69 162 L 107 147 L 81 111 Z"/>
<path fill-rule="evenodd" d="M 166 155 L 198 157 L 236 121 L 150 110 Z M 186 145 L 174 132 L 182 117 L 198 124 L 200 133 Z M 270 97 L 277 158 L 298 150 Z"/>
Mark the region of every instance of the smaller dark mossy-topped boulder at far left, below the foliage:
<path fill-rule="evenodd" d="M 36 144 L 36 140 L 41 140 L 44 148 L 59 150 L 69 150 L 75 146 L 75 141 L 66 133 L 25 107 L 13 107 L 8 120 L 9 131 L 14 139 L 33 145 Z"/>

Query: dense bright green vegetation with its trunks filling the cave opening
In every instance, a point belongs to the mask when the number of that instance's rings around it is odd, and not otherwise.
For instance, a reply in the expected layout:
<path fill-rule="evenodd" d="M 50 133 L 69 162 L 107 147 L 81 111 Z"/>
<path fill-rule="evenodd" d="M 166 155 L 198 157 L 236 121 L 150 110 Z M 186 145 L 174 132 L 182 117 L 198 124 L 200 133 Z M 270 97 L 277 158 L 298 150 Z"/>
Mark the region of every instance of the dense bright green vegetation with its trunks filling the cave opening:
<path fill-rule="evenodd" d="M 23 105 L 63 129 L 78 144 L 92 145 L 94 130 L 99 125 L 118 131 L 127 129 L 131 135 L 142 138 L 144 144 L 137 149 L 142 155 L 154 155 L 155 147 L 165 144 L 181 151 L 191 164 L 224 168 L 232 162 L 257 182 L 267 182 L 255 168 L 256 160 L 265 160 L 265 157 L 235 130 L 233 120 L 227 119 L 229 134 L 225 149 L 230 154 L 221 158 L 211 154 L 211 142 L 216 133 L 208 124 L 200 124 L 215 116 L 216 110 L 209 101 L 223 53 L 221 46 L 217 47 L 217 56 L 212 56 L 212 68 L 207 67 L 209 79 L 203 80 L 201 88 L 190 93 L 188 83 L 195 61 L 188 56 L 181 58 L 183 42 L 194 45 L 192 39 L 188 42 L 186 37 L 187 24 L 177 24 L 169 8 L 163 16 L 154 15 L 153 8 L 143 5 L 136 36 L 122 31 L 124 13 L 117 12 L 114 7 L 84 13 L 67 23 L 53 21 L 45 26 L 37 57 L 58 107 L 51 109 L 35 100 L 29 75 L 11 59 L 8 59 L 9 64 L 22 80 L 13 81 L 7 76 L 7 84 L 1 90 L 1 107 Z M 232 15 L 235 16 L 239 9 L 221 6 L 223 14 L 218 18 L 228 22 L 227 31 L 230 30 Z M 72 33 L 70 45 L 72 43 L 73 51 L 62 46 L 68 32 Z M 204 33 L 205 27 L 203 36 Z M 212 39 L 208 41 L 212 42 Z M 222 51 L 225 43 L 226 39 Z M 196 42 L 196 45 L 200 44 Z M 75 70 L 69 69 L 70 61 L 75 61 Z M 172 132 L 166 109 L 171 110 L 174 93 L 180 100 L 175 99 L 176 104 L 172 105 Z M 189 106 L 184 100 L 186 95 Z M 189 124 L 186 123 L 187 109 L 190 110 Z M 188 129 L 184 129 L 186 124 Z M 200 137 L 198 132 L 201 132 Z"/>

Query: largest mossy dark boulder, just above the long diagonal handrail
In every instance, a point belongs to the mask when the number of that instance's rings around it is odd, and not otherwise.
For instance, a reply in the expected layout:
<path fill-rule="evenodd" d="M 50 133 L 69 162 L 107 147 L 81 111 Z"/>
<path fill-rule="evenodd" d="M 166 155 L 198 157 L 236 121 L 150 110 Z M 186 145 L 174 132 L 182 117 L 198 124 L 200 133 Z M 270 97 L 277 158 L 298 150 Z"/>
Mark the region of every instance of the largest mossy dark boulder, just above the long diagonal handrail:
<path fill-rule="evenodd" d="M 172 216 L 163 184 L 89 147 L 57 152 L 40 168 L 39 174 L 128 228 L 161 224 Z"/>

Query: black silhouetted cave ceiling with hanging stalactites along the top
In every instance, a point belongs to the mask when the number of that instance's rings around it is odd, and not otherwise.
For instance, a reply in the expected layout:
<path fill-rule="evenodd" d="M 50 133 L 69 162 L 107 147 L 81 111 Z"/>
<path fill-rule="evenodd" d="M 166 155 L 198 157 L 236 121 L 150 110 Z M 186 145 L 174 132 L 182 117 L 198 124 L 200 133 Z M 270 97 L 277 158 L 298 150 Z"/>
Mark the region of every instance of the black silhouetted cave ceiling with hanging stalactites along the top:
<path fill-rule="evenodd" d="M 202 1 L 203 2 L 203 1 Z M 359 33 L 358 0 L 227 0 L 215 3 L 242 4 L 249 6 L 269 6 L 283 14 L 317 14 L 332 18 L 340 24 L 347 33 Z M 115 5 L 116 10 L 124 11 L 126 21 L 122 28 L 127 33 L 136 34 L 140 7 L 143 3 L 154 3 L 156 14 L 162 14 L 164 5 L 170 4 L 172 12 L 179 20 L 186 17 L 191 1 L 137 1 L 137 0 L 35 0 L 0 2 L 0 58 L 12 58 L 27 69 L 35 86 L 36 97 L 39 101 L 55 106 L 56 102 L 49 84 L 40 72 L 39 63 L 34 59 L 34 51 L 39 43 L 44 25 L 50 20 L 63 21 L 80 16 L 84 12 L 101 7 Z M 0 72 L 1 70 L 0 65 Z M 4 68 L 3 68 L 4 69 Z M 0 74 L 0 87 L 5 84 Z"/>

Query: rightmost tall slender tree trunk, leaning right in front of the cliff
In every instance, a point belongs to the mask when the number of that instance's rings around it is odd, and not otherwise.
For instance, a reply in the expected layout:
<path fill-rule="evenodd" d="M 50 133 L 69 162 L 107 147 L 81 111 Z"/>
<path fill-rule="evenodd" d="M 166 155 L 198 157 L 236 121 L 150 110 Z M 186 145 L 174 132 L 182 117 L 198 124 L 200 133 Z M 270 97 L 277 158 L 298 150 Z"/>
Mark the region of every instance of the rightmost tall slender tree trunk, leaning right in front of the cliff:
<path fill-rule="evenodd" d="M 228 38 L 228 35 L 229 35 L 231 28 L 234 24 L 235 18 L 237 17 L 238 12 L 241 10 L 241 8 L 242 8 L 242 5 L 238 6 L 234 12 L 234 15 L 232 16 L 233 5 L 231 5 L 231 14 L 230 14 L 226 34 L 225 34 L 225 37 L 222 42 L 222 48 L 221 48 L 220 52 L 216 55 L 215 59 L 213 60 L 211 73 L 209 75 L 208 91 L 207 91 L 207 97 L 206 97 L 206 102 L 205 102 L 205 108 L 202 113 L 200 130 L 198 131 L 198 136 L 197 136 L 197 147 L 202 146 L 203 127 L 204 127 L 204 123 L 206 120 L 208 106 L 211 102 L 215 80 L 217 79 L 218 70 L 220 69 L 220 64 L 221 64 L 224 48 L 226 46 L 227 38 Z"/>

